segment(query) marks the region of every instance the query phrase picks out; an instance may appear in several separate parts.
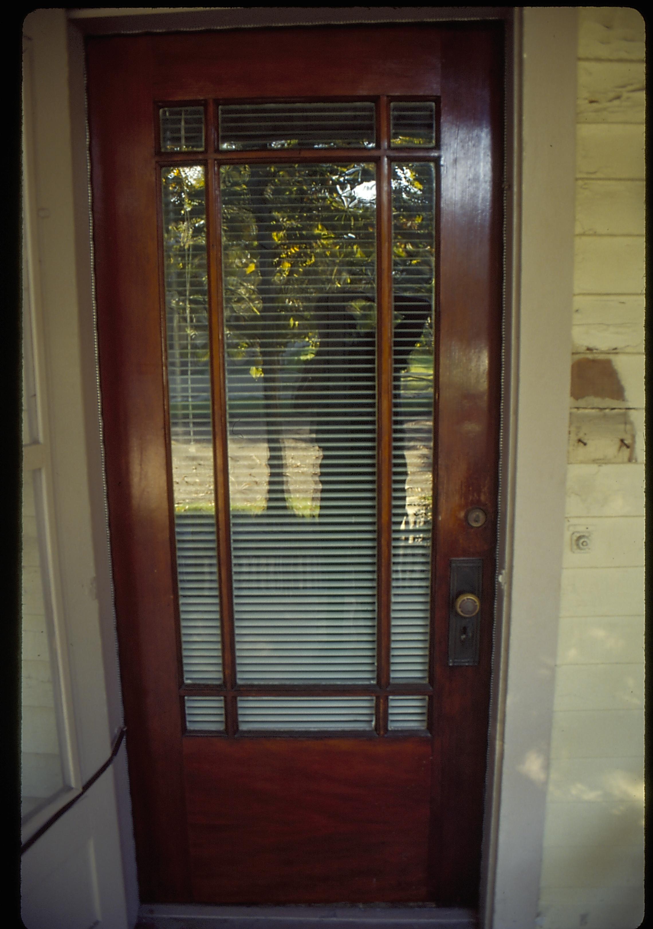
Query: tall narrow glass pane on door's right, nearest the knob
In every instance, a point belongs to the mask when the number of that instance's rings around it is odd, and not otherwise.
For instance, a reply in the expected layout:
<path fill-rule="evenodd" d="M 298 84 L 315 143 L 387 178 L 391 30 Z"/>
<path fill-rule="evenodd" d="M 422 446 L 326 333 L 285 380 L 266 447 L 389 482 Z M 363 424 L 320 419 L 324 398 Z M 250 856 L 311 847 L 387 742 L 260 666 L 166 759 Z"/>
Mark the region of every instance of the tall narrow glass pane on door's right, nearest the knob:
<path fill-rule="evenodd" d="M 391 679 L 426 681 L 433 511 L 435 166 L 392 165 Z"/>

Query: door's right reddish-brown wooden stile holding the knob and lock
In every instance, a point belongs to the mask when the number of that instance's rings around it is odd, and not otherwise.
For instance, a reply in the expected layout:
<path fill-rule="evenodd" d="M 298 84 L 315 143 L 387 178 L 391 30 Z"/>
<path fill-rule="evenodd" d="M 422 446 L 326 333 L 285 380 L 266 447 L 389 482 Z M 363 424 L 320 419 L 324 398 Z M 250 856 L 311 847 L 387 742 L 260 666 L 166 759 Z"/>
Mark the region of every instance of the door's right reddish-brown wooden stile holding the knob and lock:
<path fill-rule="evenodd" d="M 434 898 L 478 899 L 492 661 L 501 370 L 502 26 L 442 34 L 438 519 L 433 608 Z M 473 126 L 473 129 L 470 127 Z M 487 519 L 467 524 L 480 506 Z M 482 561 L 480 662 L 450 667 L 451 559 Z M 437 806 L 435 804 L 438 804 Z M 470 853 L 470 850 L 473 850 Z"/>

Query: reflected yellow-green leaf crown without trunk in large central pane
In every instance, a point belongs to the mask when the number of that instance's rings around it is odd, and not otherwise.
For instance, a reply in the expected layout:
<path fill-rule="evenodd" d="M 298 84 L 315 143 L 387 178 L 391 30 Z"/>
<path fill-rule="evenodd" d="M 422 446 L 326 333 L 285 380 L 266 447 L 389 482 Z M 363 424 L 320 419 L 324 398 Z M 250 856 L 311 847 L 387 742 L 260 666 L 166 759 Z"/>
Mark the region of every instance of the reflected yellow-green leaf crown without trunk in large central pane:
<path fill-rule="evenodd" d="M 362 315 L 375 299 L 374 169 L 224 165 L 221 187 L 227 350 L 233 358 L 261 351 L 250 326 L 260 316 L 268 344 L 284 350 L 303 340 L 304 360 L 313 357 L 318 296 L 349 292 Z"/>

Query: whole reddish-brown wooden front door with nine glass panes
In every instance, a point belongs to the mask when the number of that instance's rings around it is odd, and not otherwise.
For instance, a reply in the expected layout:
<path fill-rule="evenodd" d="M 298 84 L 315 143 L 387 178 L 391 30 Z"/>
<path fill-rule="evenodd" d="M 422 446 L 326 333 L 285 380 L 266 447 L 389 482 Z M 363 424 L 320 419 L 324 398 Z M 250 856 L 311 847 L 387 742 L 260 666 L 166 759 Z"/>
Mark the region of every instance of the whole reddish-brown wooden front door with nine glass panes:
<path fill-rule="evenodd" d="M 87 51 L 142 899 L 475 906 L 501 30 Z"/>

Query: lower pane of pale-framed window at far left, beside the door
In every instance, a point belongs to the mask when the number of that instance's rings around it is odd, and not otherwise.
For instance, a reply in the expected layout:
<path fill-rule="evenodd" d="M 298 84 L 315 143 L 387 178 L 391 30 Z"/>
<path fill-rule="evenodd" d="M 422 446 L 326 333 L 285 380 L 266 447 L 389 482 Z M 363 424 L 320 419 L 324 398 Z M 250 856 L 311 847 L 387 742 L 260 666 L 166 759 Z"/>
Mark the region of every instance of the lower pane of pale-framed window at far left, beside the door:
<path fill-rule="evenodd" d="M 22 484 L 22 663 L 20 719 L 21 815 L 28 818 L 64 786 L 59 748 L 39 514 L 34 482 L 41 472 L 24 471 Z"/>

